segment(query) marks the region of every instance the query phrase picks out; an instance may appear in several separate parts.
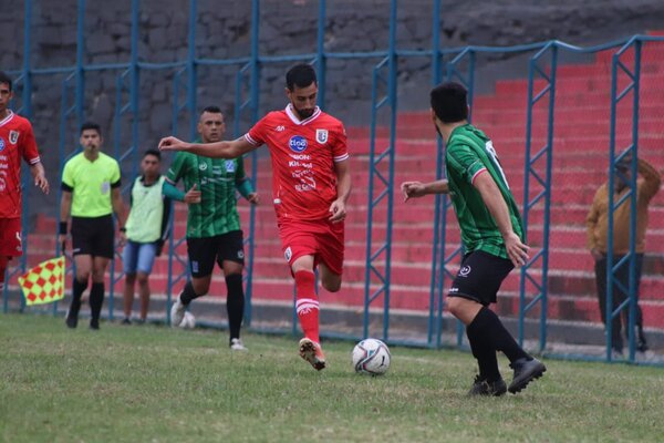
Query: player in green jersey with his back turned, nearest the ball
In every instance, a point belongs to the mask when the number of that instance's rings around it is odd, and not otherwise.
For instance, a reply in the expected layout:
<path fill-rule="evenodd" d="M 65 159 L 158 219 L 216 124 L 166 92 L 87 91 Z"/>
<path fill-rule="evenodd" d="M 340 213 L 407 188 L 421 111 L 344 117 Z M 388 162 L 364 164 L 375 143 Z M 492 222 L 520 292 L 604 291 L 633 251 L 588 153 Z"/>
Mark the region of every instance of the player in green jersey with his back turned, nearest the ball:
<path fill-rule="evenodd" d="M 430 92 L 432 117 L 445 142 L 447 179 L 402 184 L 405 200 L 448 194 L 457 214 L 465 255 L 449 289 L 447 307 L 466 324 L 479 374 L 469 394 L 502 395 L 521 391 L 547 368 L 515 341 L 488 306 L 502 280 L 528 260 L 519 209 L 496 157 L 491 141 L 468 123 L 467 91 L 447 82 Z M 510 360 L 513 379 L 506 385 L 496 351 Z"/>

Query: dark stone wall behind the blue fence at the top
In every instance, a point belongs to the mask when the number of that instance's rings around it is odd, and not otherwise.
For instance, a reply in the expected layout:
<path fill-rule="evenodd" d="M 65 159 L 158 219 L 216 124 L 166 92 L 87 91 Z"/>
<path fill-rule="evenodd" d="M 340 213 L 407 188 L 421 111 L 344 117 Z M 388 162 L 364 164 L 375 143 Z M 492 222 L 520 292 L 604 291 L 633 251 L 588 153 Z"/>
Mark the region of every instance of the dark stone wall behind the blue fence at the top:
<path fill-rule="evenodd" d="M 87 0 L 84 20 L 84 63 L 91 65 L 126 63 L 131 56 L 131 0 Z M 512 45 L 559 39 L 589 45 L 660 29 L 664 24 L 664 3 L 660 0 L 605 0 L 581 3 L 559 0 L 542 6 L 537 0 L 443 1 L 442 47 L 467 44 Z M 22 4 L 22 2 L 21 2 Z M 196 23 L 196 54 L 200 59 L 227 60 L 250 53 L 251 2 L 248 0 L 199 0 Z M 319 3 L 314 0 L 263 0 L 261 2 L 261 55 L 314 53 Z M 426 50 L 432 45 L 432 2 L 398 2 L 397 48 Z M 325 50 L 331 52 L 381 51 L 388 45 L 390 2 L 387 0 L 329 0 Z M 187 56 L 189 2 L 185 0 L 143 0 L 141 2 L 138 59 L 149 63 L 184 61 Z M 0 14 L 0 69 L 17 70 L 23 63 L 23 9 L 8 8 Z M 490 76 L 519 75 L 510 70 L 513 55 L 496 54 L 481 59 L 478 69 Z M 33 0 L 31 59 L 33 68 L 73 66 L 76 61 L 76 1 Z M 380 58 L 330 59 L 325 109 L 346 124 L 366 124 L 371 115 L 371 79 Z M 292 62 L 263 65 L 260 78 L 260 112 L 286 104 L 283 73 Z M 198 107 L 220 105 L 232 128 L 236 73 L 241 64 L 199 65 Z M 179 68 L 142 69 L 139 92 L 141 151 L 154 146 L 172 132 L 174 75 Z M 520 69 L 520 68 L 519 68 Z M 100 122 L 106 135 L 106 151 L 126 150 L 129 143 L 127 117 L 114 123 L 117 105 L 116 82 L 122 69 L 85 72 L 85 119 Z M 63 81 L 68 73 L 33 75 L 32 122 L 44 151 L 49 176 L 58 177 Z M 186 75 L 183 78 L 186 79 Z M 400 109 L 426 106 L 432 84 L 430 58 L 400 61 Z M 489 79 L 490 80 L 490 79 Z M 20 93 L 20 87 L 18 91 Z M 73 100 L 73 87 L 65 96 Z M 181 99 L 180 94 L 180 99 Z M 121 96 L 122 104 L 128 96 Z M 20 100 L 17 101 L 20 105 Z M 178 134 L 188 135 L 186 113 L 178 115 Z M 241 131 L 249 124 L 243 122 Z M 65 121 L 65 152 L 76 145 L 73 117 Z M 229 134 L 230 136 L 230 134 Z M 135 162 L 127 159 L 131 173 Z"/>

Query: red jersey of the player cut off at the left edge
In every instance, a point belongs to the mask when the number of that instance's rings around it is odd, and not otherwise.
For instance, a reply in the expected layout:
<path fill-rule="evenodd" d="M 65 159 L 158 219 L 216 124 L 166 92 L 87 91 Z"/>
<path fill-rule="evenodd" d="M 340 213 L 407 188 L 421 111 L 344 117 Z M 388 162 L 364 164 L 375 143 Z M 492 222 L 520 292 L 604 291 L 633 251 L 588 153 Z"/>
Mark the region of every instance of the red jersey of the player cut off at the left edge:
<path fill-rule="evenodd" d="M 0 218 L 21 216 L 21 157 L 30 165 L 39 163 L 32 125 L 9 111 L 0 120 Z"/>

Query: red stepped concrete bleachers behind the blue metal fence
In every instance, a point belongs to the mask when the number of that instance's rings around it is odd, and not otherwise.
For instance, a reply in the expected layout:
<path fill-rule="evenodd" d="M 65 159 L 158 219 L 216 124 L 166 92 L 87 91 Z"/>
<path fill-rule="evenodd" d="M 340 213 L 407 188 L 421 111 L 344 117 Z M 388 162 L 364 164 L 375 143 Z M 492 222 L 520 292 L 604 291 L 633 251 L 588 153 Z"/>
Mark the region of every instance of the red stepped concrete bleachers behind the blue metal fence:
<path fill-rule="evenodd" d="M 640 114 L 640 153 L 660 171 L 664 169 L 664 59 L 658 51 L 643 53 L 643 78 Z M 563 65 L 558 71 L 552 159 L 551 229 L 549 256 L 549 318 L 558 320 L 599 322 L 600 312 L 594 289 L 593 261 L 585 249 L 584 219 L 595 189 L 606 179 L 610 146 L 610 58 L 600 53 L 592 63 Z M 537 85 L 541 86 L 540 83 Z M 536 85 L 536 86 L 537 86 Z M 522 204 L 527 122 L 527 81 L 499 81 L 492 94 L 475 97 L 474 123 L 494 141 L 515 197 Z M 622 105 L 621 105 L 622 106 Z M 631 107 L 620 107 L 616 143 L 626 146 L 631 141 Z M 532 148 L 544 143 L 546 106 L 533 111 Z M 435 178 L 436 133 L 428 111 L 401 113 L 396 131 L 396 167 L 392 245 L 391 307 L 427 310 L 433 243 L 434 198 L 415 199 L 404 204 L 398 185 L 406 179 Z M 359 307 L 364 302 L 366 214 L 369 185 L 369 127 L 347 127 L 352 155 L 351 171 L 354 190 L 346 220 L 346 257 L 344 286 L 339 293 L 321 290 L 323 303 Z M 378 127 L 376 146 L 388 143 L 390 128 Z M 381 148 L 382 150 L 382 148 Z M 261 205 L 257 209 L 253 290 L 260 300 L 292 300 L 292 280 L 282 258 L 274 214 L 270 204 L 270 159 L 263 155 L 258 164 L 258 189 Z M 539 169 L 542 171 L 542 169 Z M 243 226 L 248 226 L 246 202 L 240 203 Z M 459 233 L 449 213 L 446 251 L 453 251 Z M 533 254 L 542 243 L 543 210 L 541 205 L 529 215 L 528 243 Z M 175 237 L 184 234 L 186 213 L 176 205 Z M 374 236 L 384 238 L 384 207 L 374 213 Z M 30 235 L 30 262 L 49 258 L 55 249 L 51 235 L 54 222 L 38 220 L 37 231 Z M 49 233 L 49 234 L 42 234 Z M 646 261 L 641 286 L 641 305 L 647 328 L 664 329 L 664 193 L 651 205 L 646 236 Z M 183 245 L 178 250 L 186 255 Z M 153 292 L 166 291 L 166 256 L 160 257 L 152 277 Z M 181 268 L 176 264 L 176 271 Z M 537 275 L 538 270 L 533 272 Z M 120 290 L 117 288 L 116 290 Z M 179 290 L 179 288 L 178 288 Z M 216 277 L 210 291 L 222 296 L 222 278 Z M 518 312 L 519 279 L 515 271 L 506 280 L 498 310 Z M 537 315 L 536 310 L 531 315 Z"/>

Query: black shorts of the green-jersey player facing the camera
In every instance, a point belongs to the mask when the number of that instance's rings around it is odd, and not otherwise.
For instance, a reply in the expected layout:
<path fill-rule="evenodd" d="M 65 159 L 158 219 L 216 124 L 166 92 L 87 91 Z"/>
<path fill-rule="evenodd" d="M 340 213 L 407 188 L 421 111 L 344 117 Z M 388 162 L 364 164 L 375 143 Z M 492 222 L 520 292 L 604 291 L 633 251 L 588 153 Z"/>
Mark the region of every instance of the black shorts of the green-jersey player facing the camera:
<path fill-rule="evenodd" d="M 245 266 L 245 243 L 241 230 L 231 230 L 215 237 L 187 238 L 189 267 L 194 277 L 212 274 L 215 261 L 220 268 L 225 260 Z"/>

